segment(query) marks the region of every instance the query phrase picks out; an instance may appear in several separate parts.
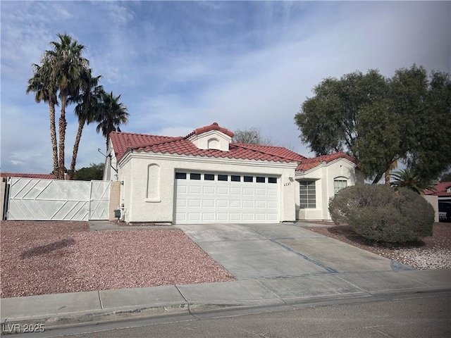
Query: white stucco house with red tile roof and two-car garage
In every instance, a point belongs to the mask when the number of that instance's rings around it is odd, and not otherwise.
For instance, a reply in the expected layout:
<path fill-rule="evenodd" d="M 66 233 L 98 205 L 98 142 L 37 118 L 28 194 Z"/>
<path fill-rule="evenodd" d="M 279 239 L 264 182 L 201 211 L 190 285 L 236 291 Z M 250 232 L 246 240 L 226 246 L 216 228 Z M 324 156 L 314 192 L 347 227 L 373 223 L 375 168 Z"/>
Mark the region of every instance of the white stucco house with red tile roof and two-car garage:
<path fill-rule="evenodd" d="M 112 132 L 104 180 L 121 182 L 121 218 L 149 223 L 330 220 L 328 200 L 354 185 L 345 153 L 305 158 L 280 146 L 232 143 L 217 123 L 185 137 Z"/>

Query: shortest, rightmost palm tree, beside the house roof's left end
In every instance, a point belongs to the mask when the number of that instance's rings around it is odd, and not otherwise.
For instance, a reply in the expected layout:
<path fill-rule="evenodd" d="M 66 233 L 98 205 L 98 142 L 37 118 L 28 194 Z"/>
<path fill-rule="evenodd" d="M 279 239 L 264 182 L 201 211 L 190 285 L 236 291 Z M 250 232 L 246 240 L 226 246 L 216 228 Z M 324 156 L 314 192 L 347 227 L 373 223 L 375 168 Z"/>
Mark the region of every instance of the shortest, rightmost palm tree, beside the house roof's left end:
<path fill-rule="evenodd" d="M 120 125 L 128 123 L 127 117 L 130 114 L 127 112 L 127 108 L 119 102 L 119 99 L 121 99 L 121 95 L 114 97 L 113 92 L 104 93 L 97 114 L 96 122 L 99 124 L 96 130 L 97 132 L 101 131 L 106 138 L 106 149 L 108 149 L 110 133 L 120 132 Z"/>

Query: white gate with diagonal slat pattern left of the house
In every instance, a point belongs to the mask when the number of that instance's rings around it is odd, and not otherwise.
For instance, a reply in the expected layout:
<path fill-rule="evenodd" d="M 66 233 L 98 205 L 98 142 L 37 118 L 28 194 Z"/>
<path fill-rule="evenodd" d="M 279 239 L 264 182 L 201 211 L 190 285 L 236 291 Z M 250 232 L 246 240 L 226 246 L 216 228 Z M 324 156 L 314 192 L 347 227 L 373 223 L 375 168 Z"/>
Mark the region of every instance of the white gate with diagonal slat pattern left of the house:
<path fill-rule="evenodd" d="M 109 181 L 11 177 L 8 220 L 108 220 Z"/>

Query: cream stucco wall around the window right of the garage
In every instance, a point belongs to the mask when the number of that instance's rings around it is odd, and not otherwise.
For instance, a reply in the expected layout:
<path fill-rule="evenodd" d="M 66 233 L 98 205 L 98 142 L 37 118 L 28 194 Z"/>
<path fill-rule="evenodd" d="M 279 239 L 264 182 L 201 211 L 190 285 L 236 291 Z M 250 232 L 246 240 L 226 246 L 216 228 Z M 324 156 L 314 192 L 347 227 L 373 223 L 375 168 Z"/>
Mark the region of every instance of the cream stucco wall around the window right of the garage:
<path fill-rule="evenodd" d="M 305 173 L 296 175 L 296 213 L 298 220 L 331 220 L 328 211 L 329 199 L 334 196 L 334 180 L 342 178 L 347 180 L 350 187 L 358 182 L 356 165 L 345 158 L 338 158 L 330 163 L 323 163 Z M 299 206 L 299 180 L 315 180 L 316 208 L 303 208 Z"/>

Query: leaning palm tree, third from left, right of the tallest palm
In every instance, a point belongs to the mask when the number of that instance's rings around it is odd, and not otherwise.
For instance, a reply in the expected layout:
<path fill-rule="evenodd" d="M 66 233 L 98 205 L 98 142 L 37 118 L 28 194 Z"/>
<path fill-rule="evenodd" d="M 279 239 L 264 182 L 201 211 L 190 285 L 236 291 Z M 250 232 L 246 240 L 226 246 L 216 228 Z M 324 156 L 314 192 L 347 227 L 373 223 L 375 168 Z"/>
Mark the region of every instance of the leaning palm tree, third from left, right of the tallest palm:
<path fill-rule="evenodd" d="M 78 97 L 73 98 L 73 101 L 77 103 L 74 113 L 78 117 L 78 131 L 73 144 L 69 175 L 75 173 L 75 163 L 77 162 L 78 146 L 80 145 L 83 127 L 85 127 L 85 124 L 89 125 L 89 123 L 94 122 L 97 111 L 99 110 L 101 97 L 104 93 L 104 87 L 99 85 L 100 77 L 101 75 L 93 77 L 92 69 L 83 72 L 80 82 L 82 92 Z"/>

